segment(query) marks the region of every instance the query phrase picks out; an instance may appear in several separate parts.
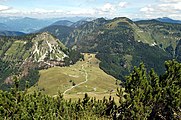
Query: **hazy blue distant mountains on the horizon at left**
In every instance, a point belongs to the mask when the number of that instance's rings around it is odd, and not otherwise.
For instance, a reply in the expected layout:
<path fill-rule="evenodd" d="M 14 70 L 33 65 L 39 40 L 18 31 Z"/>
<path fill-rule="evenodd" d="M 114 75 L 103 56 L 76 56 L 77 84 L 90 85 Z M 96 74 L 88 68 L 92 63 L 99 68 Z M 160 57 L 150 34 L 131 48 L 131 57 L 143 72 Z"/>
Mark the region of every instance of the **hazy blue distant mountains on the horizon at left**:
<path fill-rule="evenodd" d="M 85 17 L 63 17 L 45 19 L 29 17 L 0 17 L 0 31 L 19 31 L 24 33 L 32 33 L 49 25 L 70 26 L 74 22 L 81 19 L 90 20 L 90 18 Z"/>

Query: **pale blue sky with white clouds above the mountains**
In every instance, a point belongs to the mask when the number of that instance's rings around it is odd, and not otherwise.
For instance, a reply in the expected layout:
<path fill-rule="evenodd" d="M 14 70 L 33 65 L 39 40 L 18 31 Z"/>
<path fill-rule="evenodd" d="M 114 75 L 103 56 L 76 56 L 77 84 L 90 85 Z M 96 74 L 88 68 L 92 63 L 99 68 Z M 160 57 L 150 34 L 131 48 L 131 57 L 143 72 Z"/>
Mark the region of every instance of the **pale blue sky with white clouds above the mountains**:
<path fill-rule="evenodd" d="M 181 0 L 0 0 L 0 16 L 181 20 Z"/>

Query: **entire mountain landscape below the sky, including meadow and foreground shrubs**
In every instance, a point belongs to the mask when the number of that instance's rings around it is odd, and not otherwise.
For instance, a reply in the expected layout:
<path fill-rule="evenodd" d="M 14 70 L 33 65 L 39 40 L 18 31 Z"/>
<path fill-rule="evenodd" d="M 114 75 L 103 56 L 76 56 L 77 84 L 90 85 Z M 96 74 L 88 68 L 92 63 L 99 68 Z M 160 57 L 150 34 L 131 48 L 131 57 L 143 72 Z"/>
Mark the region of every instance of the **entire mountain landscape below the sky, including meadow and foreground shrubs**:
<path fill-rule="evenodd" d="M 0 116 L 180 119 L 180 21 L 80 18 L 0 19 Z"/>

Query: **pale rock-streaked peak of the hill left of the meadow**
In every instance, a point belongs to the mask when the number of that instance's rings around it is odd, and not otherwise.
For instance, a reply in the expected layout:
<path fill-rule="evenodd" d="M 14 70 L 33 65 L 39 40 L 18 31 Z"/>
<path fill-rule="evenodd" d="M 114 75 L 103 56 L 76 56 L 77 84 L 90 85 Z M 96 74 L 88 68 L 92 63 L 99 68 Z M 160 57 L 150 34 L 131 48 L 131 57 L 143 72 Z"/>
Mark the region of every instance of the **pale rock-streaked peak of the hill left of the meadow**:
<path fill-rule="evenodd" d="M 35 61 L 50 60 L 63 61 L 65 57 L 68 57 L 61 50 L 65 50 L 66 47 L 54 36 L 48 32 L 43 32 L 36 35 L 33 40 L 33 57 Z"/>

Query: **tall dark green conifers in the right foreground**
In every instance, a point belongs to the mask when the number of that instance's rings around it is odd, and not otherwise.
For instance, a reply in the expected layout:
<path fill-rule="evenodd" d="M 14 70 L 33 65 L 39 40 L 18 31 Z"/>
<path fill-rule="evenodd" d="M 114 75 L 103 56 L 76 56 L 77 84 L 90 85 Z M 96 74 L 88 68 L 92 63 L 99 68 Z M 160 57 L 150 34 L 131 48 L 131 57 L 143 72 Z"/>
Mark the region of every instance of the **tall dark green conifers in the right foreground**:
<path fill-rule="evenodd" d="M 125 90 L 118 90 L 117 119 L 181 119 L 181 63 L 166 61 L 165 68 L 161 76 L 154 70 L 147 73 L 143 63 L 134 68 L 126 77 Z"/>

